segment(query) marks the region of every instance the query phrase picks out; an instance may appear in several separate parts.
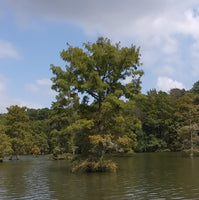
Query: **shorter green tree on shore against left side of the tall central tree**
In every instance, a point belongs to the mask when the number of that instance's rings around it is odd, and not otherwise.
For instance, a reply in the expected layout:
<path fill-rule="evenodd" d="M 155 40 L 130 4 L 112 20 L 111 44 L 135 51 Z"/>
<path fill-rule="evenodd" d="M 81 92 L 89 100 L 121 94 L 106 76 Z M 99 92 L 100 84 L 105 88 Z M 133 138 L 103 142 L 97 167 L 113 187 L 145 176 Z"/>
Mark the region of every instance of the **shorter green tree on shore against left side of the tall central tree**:
<path fill-rule="evenodd" d="M 73 99 L 62 99 L 57 97 L 57 102 L 52 105 L 48 126 L 49 126 L 49 147 L 50 152 L 58 154 L 68 153 L 74 149 L 74 131 L 70 126 L 79 119 L 76 110 L 77 101 Z M 74 126 L 73 126 L 74 127 Z M 76 128 L 74 128 L 77 131 Z M 73 147 L 72 147 L 73 146 Z"/>

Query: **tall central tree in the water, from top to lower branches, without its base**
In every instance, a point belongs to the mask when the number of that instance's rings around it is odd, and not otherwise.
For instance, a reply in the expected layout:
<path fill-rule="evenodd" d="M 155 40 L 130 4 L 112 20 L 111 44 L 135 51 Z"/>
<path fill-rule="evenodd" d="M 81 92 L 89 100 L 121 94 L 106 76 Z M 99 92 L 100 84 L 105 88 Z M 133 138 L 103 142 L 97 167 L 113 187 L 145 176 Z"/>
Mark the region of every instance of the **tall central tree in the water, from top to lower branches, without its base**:
<path fill-rule="evenodd" d="M 88 121 L 93 126 L 87 128 L 86 134 L 86 127 L 84 130 L 76 129 L 73 136 L 67 133 L 66 124 L 60 124 L 56 130 L 73 138 L 78 134 L 88 144 L 89 137 L 94 135 L 106 138 L 111 134 L 117 141 L 118 137 L 126 134 L 129 145 L 135 148 L 134 132 L 140 128 L 140 122 L 129 106 L 134 106 L 133 99 L 141 89 L 143 71 L 139 69 L 139 48 L 120 47 L 120 43 L 112 45 L 109 39 L 98 38 L 96 43 L 84 43 L 82 49 L 67 44 L 61 57 L 66 61 L 65 69 L 51 65 L 55 75 L 52 88 L 58 93 L 54 110 L 57 108 L 62 115 L 70 109 L 75 111 L 73 120 L 65 116 L 69 126 L 77 120 Z M 75 143 L 83 153 L 82 143 L 78 141 L 79 137 L 76 138 Z M 88 146 L 85 148 L 87 153 L 90 152 Z"/>

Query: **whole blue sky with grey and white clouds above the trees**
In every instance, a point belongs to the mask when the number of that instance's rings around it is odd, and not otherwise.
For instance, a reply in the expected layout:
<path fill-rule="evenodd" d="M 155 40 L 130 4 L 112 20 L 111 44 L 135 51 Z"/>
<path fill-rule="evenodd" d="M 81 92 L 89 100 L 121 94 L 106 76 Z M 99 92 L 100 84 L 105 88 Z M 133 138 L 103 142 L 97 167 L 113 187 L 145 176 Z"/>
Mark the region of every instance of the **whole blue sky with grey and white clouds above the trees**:
<path fill-rule="evenodd" d="M 0 0 L 0 113 L 50 107 L 50 64 L 101 36 L 140 47 L 143 93 L 199 80 L 198 0 Z"/>

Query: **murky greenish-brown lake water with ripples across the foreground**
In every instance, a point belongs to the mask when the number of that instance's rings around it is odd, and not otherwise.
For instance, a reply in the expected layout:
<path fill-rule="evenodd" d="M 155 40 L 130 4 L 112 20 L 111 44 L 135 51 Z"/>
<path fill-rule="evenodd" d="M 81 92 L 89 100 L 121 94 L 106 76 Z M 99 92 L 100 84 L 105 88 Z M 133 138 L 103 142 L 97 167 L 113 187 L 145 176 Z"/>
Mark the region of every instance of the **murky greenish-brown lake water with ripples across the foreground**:
<path fill-rule="evenodd" d="M 44 156 L 5 161 L 0 163 L 0 199 L 199 199 L 199 158 L 141 153 L 113 159 L 117 173 L 71 174 L 67 161 Z"/>

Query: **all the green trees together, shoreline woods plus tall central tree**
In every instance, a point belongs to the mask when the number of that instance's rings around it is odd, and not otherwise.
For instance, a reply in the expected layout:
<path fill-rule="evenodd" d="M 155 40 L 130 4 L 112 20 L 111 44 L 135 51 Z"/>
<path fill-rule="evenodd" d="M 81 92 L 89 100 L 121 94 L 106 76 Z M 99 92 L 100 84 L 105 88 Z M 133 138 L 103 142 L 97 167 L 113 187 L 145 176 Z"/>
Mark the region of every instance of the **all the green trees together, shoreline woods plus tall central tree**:
<path fill-rule="evenodd" d="M 115 170 L 107 155 L 189 151 L 199 146 L 199 81 L 190 90 L 141 92 L 140 49 L 107 38 L 61 52 L 51 65 L 51 108 L 13 105 L 0 114 L 0 161 L 19 155 L 78 156 L 74 171 Z M 197 152 L 197 151 L 195 151 Z"/>

